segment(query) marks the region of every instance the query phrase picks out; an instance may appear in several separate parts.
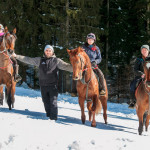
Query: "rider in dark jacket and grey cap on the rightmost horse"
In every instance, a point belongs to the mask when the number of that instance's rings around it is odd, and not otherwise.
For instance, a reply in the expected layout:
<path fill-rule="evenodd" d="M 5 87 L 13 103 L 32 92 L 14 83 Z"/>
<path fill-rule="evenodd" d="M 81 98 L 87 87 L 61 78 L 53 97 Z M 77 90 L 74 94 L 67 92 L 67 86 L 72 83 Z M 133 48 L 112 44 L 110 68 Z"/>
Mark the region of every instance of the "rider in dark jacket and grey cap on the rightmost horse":
<path fill-rule="evenodd" d="M 143 69 L 143 63 L 145 61 L 145 58 L 149 55 L 149 46 L 148 45 L 142 45 L 141 46 L 141 57 L 138 57 L 136 59 L 135 65 L 134 65 L 134 72 L 135 72 L 135 79 L 132 80 L 130 84 L 130 102 L 129 102 L 129 108 L 134 108 L 136 99 L 135 99 L 135 90 L 137 85 L 139 85 L 140 81 L 144 79 L 144 69 Z"/>

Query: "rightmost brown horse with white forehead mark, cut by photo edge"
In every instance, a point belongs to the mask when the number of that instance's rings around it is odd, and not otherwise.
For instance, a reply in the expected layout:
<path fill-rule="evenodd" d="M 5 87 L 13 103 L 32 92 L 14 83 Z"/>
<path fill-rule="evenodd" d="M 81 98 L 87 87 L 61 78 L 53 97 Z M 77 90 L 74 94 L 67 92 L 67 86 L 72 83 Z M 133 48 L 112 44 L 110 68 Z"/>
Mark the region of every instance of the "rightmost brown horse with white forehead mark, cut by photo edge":
<path fill-rule="evenodd" d="M 139 119 L 139 135 L 143 132 L 143 125 L 145 130 L 148 131 L 150 120 L 150 57 L 145 59 L 143 63 L 145 80 L 141 81 L 136 89 L 136 112 Z"/>

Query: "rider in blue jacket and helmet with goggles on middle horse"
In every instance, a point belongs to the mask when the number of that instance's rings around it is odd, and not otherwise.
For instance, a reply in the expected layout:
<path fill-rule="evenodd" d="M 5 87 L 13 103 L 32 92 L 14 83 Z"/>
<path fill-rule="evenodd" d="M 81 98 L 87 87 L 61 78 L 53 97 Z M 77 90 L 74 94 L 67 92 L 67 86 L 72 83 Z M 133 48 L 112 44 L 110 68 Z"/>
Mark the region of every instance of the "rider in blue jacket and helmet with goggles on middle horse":
<path fill-rule="evenodd" d="M 92 68 L 96 72 L 100 80 L 100 95 L 105 94 L 105 84 L 104 84 L 104 75 L 102 71 L 98 68 L 98 64 L 101 62 L 101 52 L 99 47 L 95 44 L 96 36 L 94 33 L 89 33 L 86 37 L 86 42 L 83 45 L 83 49 L 89 56 L 92 64 Z"/>

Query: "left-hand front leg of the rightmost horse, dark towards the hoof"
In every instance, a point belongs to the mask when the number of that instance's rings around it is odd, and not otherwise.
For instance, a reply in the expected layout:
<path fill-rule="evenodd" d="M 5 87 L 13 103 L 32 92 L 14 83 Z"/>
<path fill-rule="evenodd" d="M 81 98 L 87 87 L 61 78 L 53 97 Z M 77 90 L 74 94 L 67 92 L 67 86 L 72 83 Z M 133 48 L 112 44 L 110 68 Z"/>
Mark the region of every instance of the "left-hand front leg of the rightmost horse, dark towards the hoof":
<path fill-rule="evenodd" d="M 143 115 L 144 115 L 144 110 L 141 108 L 141 106 L 138 106 L 137 110 L 136 110 L 137 116 L 139 118 L 139 128 L 138 128 L 138 132 L 139 135 L 142 135 L 143 132 Z"/>

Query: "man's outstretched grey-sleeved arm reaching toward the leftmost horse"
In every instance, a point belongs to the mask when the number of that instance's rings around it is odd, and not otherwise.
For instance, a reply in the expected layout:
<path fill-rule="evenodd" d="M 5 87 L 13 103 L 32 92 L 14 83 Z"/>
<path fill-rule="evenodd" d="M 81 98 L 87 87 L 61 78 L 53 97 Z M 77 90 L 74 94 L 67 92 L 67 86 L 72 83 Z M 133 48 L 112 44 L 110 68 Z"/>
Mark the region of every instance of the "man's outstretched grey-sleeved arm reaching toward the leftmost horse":
<path fill-rule="evenodd" d="M 40 61 L 41 61 L 41 57 L 31 58 L 31 57 L 22 56 L 22 55 L 16 55 L 16 59 L 23 63 L 33 65 L 36 67 L 39 67 Z"/>

